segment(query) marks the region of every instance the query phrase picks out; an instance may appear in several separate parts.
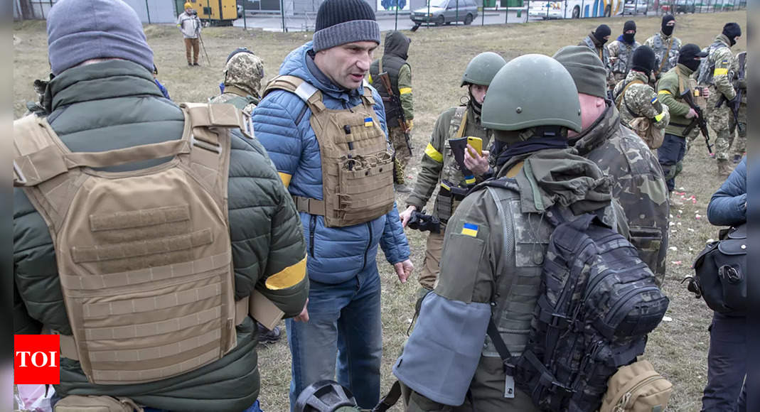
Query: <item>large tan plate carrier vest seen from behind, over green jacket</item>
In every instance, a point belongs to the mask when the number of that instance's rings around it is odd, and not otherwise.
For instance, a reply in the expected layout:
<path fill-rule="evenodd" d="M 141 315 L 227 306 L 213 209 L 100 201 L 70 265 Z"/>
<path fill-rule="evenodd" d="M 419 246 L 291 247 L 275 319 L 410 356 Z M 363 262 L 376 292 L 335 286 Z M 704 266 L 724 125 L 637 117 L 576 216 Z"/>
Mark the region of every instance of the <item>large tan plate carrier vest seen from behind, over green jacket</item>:
<path fill-rule="evenodd" d="M 229 128 L 252 136 L 250 118 L 233 105 L 180 107 L 182 139 L 106 152 L 71 153 L 43 118 L 14 123 L 14 186 L 49 227 L 74 333 L 61 335 L 61 355 L 92 383 L 214 362 L 236 347 L 248 313 L 247 298 L 234 300 L 227 179 Z"/>

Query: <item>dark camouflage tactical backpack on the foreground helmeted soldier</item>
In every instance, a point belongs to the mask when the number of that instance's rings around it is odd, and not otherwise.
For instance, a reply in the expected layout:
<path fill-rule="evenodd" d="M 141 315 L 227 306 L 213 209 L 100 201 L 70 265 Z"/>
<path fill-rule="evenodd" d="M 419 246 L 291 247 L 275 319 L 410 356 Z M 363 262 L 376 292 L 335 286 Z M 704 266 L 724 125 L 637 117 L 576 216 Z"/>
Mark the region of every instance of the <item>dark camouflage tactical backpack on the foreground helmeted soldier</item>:
<path fill-rule="evenodd" d="M 550 209 L 546 217 L 555 229 L 530 341 L 511 357 L 493 322 L 489 336 L 505 360 L 507 386 L 514 379 L 540 410 L 594 412 L 610 376 L 644 353 L 669 300 L 635 247 L 597 215 L 565 222 Z"/>

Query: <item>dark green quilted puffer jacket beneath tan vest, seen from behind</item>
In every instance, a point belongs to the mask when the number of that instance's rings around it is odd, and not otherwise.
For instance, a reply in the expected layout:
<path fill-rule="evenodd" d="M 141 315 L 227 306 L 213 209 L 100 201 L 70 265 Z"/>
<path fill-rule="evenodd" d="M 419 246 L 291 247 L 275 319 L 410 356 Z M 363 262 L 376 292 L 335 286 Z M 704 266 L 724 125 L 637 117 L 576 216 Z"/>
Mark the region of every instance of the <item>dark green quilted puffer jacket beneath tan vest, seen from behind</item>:
<path fill-rule="evenodd" d="M 52 104 L 47 120 L 74 152 L 121 149 L 182 136 L 182 110 L 163 98 L 149 71 L 131 61 L 71 68 L 55 77 L 48 89 Z M 161 161 L 150 162 L 119 169 Z M 239 131 L 233 131 L 228 193 L 236 299 L 249 296 L 255 288 L 285 316 L 298 315 L 309 294 L 308 278 L 276 291 L 264 281 L 305 259 L 299 215 L 264 148 Z M 13 207 L 14 333 L 39 334 L 45 326 L 71 335 L 46 223 L 21 189 L 14 189 Z M 247 317 L 237 327 L 237 347 L 220 360 L 183 375 L 135 385 L 91 384 L 78 361 L 62 357 L 61 383 L 55 390 L 61 396 L 124 396 L 177 412 L 239 412 L 258 398 L 257 344 L 257 326 Z"/>

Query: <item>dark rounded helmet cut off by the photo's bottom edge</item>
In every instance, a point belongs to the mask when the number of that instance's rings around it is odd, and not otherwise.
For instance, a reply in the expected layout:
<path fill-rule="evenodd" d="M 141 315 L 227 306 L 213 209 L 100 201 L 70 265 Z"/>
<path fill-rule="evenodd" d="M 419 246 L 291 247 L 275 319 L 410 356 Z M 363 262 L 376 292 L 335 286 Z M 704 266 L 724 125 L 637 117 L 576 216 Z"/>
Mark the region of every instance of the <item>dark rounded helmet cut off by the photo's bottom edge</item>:
<path fill-rule="evenodd" d="M 296 399 L 294 412 L 359 412 L 356 399 L 347 389 L 331 380 L 307 386 Z"/>

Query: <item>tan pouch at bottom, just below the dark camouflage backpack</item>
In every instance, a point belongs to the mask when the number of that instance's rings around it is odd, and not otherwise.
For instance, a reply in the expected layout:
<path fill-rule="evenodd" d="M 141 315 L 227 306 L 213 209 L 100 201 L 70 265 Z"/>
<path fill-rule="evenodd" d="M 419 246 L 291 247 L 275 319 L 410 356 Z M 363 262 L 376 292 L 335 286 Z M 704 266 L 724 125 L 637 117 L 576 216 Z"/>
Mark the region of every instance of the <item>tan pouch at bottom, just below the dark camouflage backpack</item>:
<path fill-rule="evenodd" d="M 639 360 L 610 377 L 599 412 L 663 412 L 671 393 L 673 384 Z"/>

